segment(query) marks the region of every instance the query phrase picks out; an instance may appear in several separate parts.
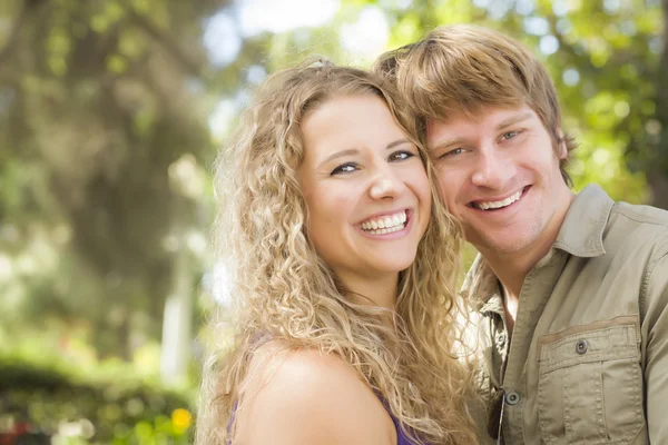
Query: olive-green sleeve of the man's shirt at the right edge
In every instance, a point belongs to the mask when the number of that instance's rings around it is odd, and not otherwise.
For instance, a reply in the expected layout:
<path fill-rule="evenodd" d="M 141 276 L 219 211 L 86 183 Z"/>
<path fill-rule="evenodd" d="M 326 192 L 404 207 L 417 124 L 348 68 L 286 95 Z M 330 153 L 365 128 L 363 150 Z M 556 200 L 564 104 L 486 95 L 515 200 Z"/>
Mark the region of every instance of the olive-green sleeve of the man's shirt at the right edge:
<path fill-rule="evenodd" d="M 651 444 L 668 444 L 668 251 L 648 265 L 642 335 L 645 397 Z"/>

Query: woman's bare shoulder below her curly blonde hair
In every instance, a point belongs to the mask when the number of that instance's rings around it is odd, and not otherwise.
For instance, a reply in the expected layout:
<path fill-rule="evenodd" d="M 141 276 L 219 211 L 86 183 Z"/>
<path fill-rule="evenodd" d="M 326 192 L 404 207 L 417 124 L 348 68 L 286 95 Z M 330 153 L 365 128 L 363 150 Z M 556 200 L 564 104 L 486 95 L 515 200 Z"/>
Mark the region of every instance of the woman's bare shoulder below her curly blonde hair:
<path fill-rule="evenodd" d="M 254 354 L 244 386 L 239 443 L 396 443 L 379 398 L 335 354 L 269 342 Z"/>

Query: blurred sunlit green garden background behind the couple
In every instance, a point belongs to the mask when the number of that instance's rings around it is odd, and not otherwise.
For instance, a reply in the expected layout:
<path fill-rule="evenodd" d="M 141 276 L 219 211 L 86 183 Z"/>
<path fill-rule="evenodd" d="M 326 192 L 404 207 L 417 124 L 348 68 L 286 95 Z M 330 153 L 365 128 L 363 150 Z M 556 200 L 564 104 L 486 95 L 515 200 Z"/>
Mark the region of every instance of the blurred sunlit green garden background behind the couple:
<path fill-rule="evenodd" d="M 1 1 L 0 442 L 190 442 L 203 322 L 228 298 L 212 164 L 254 89 L 305 58 L 504 31 L 556 81 L 576 188 L 668 208 L 662 4 Z"/>

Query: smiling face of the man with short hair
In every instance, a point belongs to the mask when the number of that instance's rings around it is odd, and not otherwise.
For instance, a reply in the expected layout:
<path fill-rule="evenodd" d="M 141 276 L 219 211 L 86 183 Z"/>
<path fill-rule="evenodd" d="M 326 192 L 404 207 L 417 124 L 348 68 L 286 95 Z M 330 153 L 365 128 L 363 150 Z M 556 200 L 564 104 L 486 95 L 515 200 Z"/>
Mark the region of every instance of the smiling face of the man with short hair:
<path fill-rule="evenodd" d="M 563 142 L 528 106 L 483 108 L 428 125 L 440 192 L 483 255 L 512 255 L 553 243 L 572 194 L 559 171 Z"/>

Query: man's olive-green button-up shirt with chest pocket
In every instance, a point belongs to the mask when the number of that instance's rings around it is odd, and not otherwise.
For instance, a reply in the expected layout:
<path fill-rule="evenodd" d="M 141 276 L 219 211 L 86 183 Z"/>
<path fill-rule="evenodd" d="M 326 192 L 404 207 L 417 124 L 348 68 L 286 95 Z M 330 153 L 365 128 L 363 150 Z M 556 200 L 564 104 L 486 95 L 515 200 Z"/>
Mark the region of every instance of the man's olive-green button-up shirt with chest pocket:
<path fill-rule="evenodd" d="M 462 293 L 503 443 L 668 444 L 668 211 L 589 186 L 527 275 L 511 336 L 499 289 L 477 258 Z"/>

